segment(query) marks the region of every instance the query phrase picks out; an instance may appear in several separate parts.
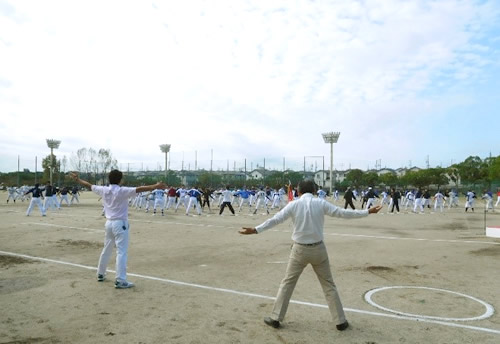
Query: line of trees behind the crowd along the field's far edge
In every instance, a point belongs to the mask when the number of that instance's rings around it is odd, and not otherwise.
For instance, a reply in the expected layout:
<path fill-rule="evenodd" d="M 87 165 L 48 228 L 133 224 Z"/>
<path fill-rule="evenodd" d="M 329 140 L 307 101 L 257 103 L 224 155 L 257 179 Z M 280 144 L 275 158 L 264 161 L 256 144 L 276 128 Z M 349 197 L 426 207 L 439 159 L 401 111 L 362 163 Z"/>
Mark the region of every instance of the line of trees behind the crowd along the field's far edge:
<path fill-rule="evenodd" d="M 64 171 L 79 171 L 82 178 L 96 184 L 107 183 L 107 174 L 111 169 L 117 168 L 118 162 L 113 157 L 109 149 L 95 150 L 92 148 L 81 148 L 73 154 L 69 161 L 64 156 L 57 159 L 54 155 L 46 156 L 42 160 L 43 171 L 38 172 L 11 172 L 0 174 L 0 182 L 4 185 L 32 185 L 36 182 L 45 183 L 49 180 L 50 167 L 53 165 L 54 184 L 72 184 Z M 199 187 L 218 187 L 220 185 L 231 185 L 232 187 L 260 187 L 271 186 L 280 187 L 283 185 L 297 185 L 304 178 L 301 172 L 297 171 L 269 171 L 263 179 L 245 179 L 235 175 L 221 175 L 214 172 L 201 172 L 196 181 Z M 165 179 L 165 176 L 137 177 L 125 173 L 125 182 L 127 185 L 138 186 L 142 184 L 152 184 L 158 179 Z M 179 185 L 181 180 L 175 171 L 168 171 L 168 184 Z M 450 167 L 435 167 L 422 169 L 418 171 L 408 171 L 403 176 L 396 173 L 385 173 L 378 175 L 375 171 L 362 171 L 359 169 L 350 170 L 344 181 L 335 185 L 339 190 L 345 190 L 348 186 L 355 188 L 364 188 L 368 186 L 376 187 L 417 187 L 427 188 L 433 186 L 440 188 L 449 183 L 459 184 L 463 188 L 472 187 L 474 189 L 483 187 L 490 189 L 500 184 L 500 156 L 481 159 L 478 156 L 470 156 L 460 163 L 453 164 Z M 194 184 L 194 183 L 193 183 Z"/>

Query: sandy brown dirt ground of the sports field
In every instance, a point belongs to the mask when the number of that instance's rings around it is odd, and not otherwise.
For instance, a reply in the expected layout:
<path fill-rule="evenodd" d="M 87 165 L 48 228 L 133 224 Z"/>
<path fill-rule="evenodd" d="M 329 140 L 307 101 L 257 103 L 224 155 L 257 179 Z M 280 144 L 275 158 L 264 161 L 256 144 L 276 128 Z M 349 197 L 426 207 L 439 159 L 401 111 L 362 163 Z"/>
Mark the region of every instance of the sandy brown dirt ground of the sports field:
<path fill-rule="evenodd" d="M 327 218 L 351 324 L 338 332 L 310 267 L 282 328 L 263 322 L 286 269 L 291 222 L 242 236 L 238 229 L 268 216 L 130 210 L 136 287 L 117 290 L 112 272 L 96 281 L 97 196 L 84 192 L 80 204 L 46 217 L 38 209 L 26 217 L 27 202 L 6 199 L 0 192 L 0 343 L 500 343 L 500 240 L 484 236 L 481 202 L 475 213 Z M 500 226 L 500 213 L 486 221 Z M 374 290 L 382 287 L 391 288 Z"/>

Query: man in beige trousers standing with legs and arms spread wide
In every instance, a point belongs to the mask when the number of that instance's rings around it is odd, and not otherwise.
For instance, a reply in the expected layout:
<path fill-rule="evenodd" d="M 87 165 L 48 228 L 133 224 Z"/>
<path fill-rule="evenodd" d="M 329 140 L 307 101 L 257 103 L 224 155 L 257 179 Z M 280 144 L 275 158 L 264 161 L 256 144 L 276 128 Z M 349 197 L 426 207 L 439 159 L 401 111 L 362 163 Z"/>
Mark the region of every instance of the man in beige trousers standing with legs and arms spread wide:
<path fill-rule="evenodd" d="M 304 268 L 311 264 L 323 288 L 328 308 L 337 330 L 343 331 L 349 327 L 340 301 L 337 287 L 330 271 L 328 252 L 323 242 L 324 216 L 359 218 L 368 214 L 377 213 L 382 207 L 376 206 L 367 210 L 348 210 L 315 198 L 315 184 L 305 180 L 299 183 L 299 199 L 287 204 L 272 218 L 255 228 L 243 227 L 240 234 L 258 234 L 272 228 L 286 219 L 292 218 L 294 230 L 292 252 L 288 260 L 285 278 L 281 281 L 278 296 L 274 303 L 271 317 L 264 318 L 264 322 L 274 328 L 280 327 L 292 297 L 293 290 Z"/>

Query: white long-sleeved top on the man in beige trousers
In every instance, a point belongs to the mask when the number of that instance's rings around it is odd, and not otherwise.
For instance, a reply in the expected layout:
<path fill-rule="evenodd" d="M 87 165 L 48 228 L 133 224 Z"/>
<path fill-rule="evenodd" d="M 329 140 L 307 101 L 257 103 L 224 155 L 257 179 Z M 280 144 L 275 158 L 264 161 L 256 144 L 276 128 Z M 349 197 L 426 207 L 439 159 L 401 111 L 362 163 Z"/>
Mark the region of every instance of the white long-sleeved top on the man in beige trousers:
<path fill-rule="evenodd" d="M 315 198 L 310 193 L 305 193 L 255 229 L 260 233 L 291 217 L 294 227 L 292 240 L 299 244 L 313 244 L 323 240 L 324 215 L 358 218 L 368 216 L 368 210 L 339 208 L 323 199 Z"/>

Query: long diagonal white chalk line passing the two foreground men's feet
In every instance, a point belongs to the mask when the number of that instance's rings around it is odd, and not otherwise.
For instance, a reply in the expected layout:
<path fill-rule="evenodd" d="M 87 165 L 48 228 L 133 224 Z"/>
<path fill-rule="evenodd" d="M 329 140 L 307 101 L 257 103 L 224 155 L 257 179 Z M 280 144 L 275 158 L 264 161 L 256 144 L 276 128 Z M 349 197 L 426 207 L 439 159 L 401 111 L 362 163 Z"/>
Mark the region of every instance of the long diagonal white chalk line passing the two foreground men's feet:
<path fill-rule="evenodd" d="M 14 256 L 14 257 L 20 257 L 20 258 L 26 258 L 26 259 L 31 259 L 31 260 L 38 260 L 38 261 L 47 262 L 47 263 L 55 263 L 55 264 L 73 266 L 73 267 L 83 268 L 83 269 L 87 269 L 87 270 L 97 270 L 97 268 L 87 266 L 87 265 L 69 263 L 69 262 L 64 262 L 64 261 L 49 259 L 49 258 L 28 256 L 25 254 L 19 254 L 19 253 L 13 253 L 13 252 L 0 251 L 0 254 Z M 108 271 L 114 272 L 113 270 L 108 270 Z M 275 300 L 276 299 L 275 297 L 272 297 L 272 296 L 266 296 L 266 295 L 249 293 L 249 292 L 242 292 L 242 291 L 226 289 L 226 288 L 211 287 L 211 286 L 206 286 L 206 285 L 196 284 L 196 283 L 188 283 L 188 282 L 182 282 L 182 281 L 169 280 L 169 279 L 154 277 L 154 276 L 147 276 L 147 275 L 141 275 L 141 274 L 135 274 L 135 273 L 128 273 L 128 275 L 147 279 L 147 280 L 152 280 L 152 281 L 159 281 L 159 282 L 181 285 L 181 286 L 186 286 L 186 287 L 218 291 L 218 292 L 240 295 L 240 296 L 248 296 L 248 297 L 266 299 L 266 300 Z M 296 301 L 296 300 L 290 300 L 290 302 L 294 303 L 294 304 L 298 304 L 298 305 L 303 305 L 303 306 L 328 308 L 327 305 L 311 303 L 311 302 Z M 346 312 L 353 312 L 353 313 L 358 313 L 358 314 L 363 314 L 363 315 L 373 315 L 373 316 L 392 318 L 392 319 L 398 319 L 398 320 L 410 320 L 410 321 L 417 321 L 417 322 L 425 322 L 425 323 L 438 324 L 438 325 L 450 326 L 450 327 L 458 327 L 458 328 L 463 328 L 463 329 L 468 329 L 468 330 L 481 331 L 481 332 L 487 332 L 487 333 L 491 333 L 491 334 L 500 335 L 500 330 L 486 328 L 486 327 L 456 324 L 453 322 L 431 320 L 431 319 L 425 319 L 425 318 L 419 318 L 419 317 L 408 317 L 408 316 L 401 316 L 401 315 L 395 315 L 395 314 L 371 312 L 371 311 L 365 311 L 365 310 L 354 309 L 354 308 L 344 308 L 344 310 Z"/>

